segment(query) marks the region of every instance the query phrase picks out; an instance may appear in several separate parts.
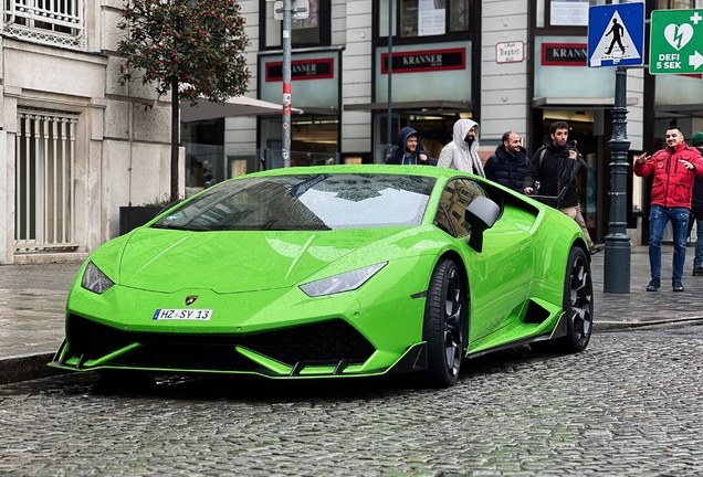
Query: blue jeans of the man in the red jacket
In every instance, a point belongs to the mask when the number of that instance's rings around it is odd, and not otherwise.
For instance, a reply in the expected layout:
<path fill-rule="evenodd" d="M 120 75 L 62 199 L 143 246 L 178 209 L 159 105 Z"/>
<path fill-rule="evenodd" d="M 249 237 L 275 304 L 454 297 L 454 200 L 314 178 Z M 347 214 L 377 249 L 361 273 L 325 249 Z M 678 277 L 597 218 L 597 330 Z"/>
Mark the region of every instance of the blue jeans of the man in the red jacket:
<path fill-rule="evenodd" d="M 669 221 L 671 221 L 674 242 L 671 280 L 681 282 L 683 264 L 686 259 L 686 229 L 689 226 L 689 209 L 686 208 L 652 205 L 649 212 L 649 266 L 652 278 L 661 278 L 661 239 Z"/>

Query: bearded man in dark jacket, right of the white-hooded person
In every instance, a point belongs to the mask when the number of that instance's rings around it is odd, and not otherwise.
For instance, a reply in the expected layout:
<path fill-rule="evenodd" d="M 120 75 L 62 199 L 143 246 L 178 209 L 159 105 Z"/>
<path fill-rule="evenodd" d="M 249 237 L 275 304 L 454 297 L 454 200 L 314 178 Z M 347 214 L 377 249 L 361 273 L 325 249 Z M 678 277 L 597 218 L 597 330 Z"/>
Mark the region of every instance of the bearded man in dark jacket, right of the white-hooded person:
<path fill-rule="evenodd" d="M 495 153 L 489 158 L 483 167 L 486 179 L 523 193 L 523 181 L 529 169 L 527 151 L 520 142 L 515 131 L 503 135 L 503 144 L 495 148 Z"/>

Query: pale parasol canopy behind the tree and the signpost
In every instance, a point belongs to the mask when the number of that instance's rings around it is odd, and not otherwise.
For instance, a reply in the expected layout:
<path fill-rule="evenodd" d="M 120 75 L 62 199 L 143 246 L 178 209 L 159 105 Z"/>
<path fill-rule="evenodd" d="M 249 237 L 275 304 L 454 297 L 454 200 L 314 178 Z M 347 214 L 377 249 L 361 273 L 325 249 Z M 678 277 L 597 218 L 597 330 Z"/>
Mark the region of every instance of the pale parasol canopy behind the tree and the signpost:
<path fill-rule="evenodd" d="M 291 108 L 291 114 L 303 114 L 303 109 Z M 217 119 L 234 116 L 283 116 L 283 105 L 269 103 L 249 96 L 231 97 L 224 104 L 210 103 L 200 99 L 197 106 L 190 106 L 189 100 L 180 102 L 181 123 Z"/>

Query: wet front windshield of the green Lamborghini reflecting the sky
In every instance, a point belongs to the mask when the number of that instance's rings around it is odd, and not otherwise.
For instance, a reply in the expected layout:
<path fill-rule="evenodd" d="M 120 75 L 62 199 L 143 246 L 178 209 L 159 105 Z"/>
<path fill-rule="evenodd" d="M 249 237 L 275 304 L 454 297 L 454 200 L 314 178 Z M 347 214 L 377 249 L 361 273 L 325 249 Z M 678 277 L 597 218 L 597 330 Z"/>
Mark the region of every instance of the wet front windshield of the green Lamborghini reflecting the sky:
<path fill-rule="evenodd" d="M 309 231 L 418 225 L 434 182 L 398 174 L 244 178 L 206 190 L 151 226 Z"/>

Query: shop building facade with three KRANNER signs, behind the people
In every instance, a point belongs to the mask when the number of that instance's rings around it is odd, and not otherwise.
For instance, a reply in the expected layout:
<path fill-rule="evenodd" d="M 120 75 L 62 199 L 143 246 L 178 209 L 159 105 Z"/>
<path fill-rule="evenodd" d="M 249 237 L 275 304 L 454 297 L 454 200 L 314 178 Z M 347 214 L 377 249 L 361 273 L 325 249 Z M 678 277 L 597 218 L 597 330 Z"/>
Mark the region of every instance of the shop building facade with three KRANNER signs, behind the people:
<path fill-rule="evenodd" d="M 253 40 L 251 92 L 280 103 L 281 21 L 272 2 L 241 3 Z M 438 157 L 459 118 L 480 124 L 483 159 L 506 130 L 518 132 L 532 155 L 548 141 L 549 125 L 566 120 L 589 165 L 579 179 L 581 205 L 601 242 L 609 233 L 616 68 L 588 67 L 587 34 L 588 8 L 610 3 L 618 0 L 311 0 L 308 19 L 295 20 L 291 34 L 292 104 L 305 112 L 292 118 L 292 162 L 380 163 L 403 126 L 418 129 L 424 149 Z M 653 10 L 703 9 L 701 0 L 643 3 L 646 18 Z M 646 52 L 648 41 L 649 33 Z M 661 148 L 670 124 L 685 136 L 701 130 L 701 95 L 700 74 L 628 68 L 629 160 Z M 256 151 L 250 168 L 281 165 L 281 117 L 228 118 L 221 127 L 228 157 Z M 640 243 L 647 240 L 647 180 L 630 177 L 628 197 L 628 233 Z"/>

